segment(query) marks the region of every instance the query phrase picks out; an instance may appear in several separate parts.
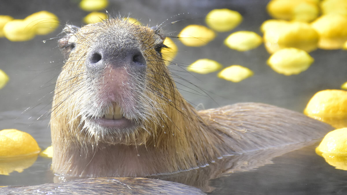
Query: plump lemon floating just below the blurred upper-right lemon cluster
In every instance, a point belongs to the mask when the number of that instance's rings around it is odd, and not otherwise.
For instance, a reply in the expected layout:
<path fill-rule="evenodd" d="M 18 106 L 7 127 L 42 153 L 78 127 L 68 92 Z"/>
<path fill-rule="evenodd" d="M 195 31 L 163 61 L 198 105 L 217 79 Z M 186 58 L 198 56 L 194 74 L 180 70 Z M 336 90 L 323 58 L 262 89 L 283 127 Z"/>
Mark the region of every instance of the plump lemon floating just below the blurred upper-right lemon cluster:
<path fill-rule="evenodd" d="M 314 59 L 304 50 L 285 48 L 273 53 L 268 65 L 277 73 L 297 75 L 311 66 Z"/>

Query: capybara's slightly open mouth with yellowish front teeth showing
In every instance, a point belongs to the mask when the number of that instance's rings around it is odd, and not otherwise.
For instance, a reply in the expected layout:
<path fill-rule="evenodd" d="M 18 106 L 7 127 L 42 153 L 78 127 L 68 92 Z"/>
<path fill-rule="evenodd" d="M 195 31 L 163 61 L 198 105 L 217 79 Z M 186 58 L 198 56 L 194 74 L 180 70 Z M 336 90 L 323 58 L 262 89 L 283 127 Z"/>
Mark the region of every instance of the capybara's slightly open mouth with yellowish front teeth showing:
<path fill-rule="evenodd" d="M 88 118 L 88 120 L 111 129 L 125 129 L 138 125 L 138 122 L 125 118 L 120 106 L 116 103 L 110 105 L 102 117 Z"/>

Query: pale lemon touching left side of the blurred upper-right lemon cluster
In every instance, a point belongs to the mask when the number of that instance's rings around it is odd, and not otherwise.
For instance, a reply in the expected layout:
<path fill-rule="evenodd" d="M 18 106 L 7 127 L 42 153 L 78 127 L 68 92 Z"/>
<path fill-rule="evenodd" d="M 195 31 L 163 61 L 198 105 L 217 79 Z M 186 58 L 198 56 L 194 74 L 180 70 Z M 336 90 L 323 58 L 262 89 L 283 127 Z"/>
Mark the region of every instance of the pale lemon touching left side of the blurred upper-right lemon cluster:
<path fill-rule="evenodd" d="M 230 49 L 238 51 L 248 51 L 257 48 L 263 39 L 261 36 L 251 31 L 238 31 L 231 33 L 224 41 Z"/>

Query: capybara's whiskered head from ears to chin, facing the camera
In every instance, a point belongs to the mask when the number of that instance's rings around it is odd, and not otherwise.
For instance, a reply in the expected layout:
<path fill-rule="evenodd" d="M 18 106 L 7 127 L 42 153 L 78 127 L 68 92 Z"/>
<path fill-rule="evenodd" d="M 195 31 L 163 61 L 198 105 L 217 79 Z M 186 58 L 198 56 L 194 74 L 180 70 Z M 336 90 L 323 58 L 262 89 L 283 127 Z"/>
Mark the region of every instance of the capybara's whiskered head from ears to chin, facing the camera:
<path fill-rule="evenodd" d="M 172 121 L 182 117 L 186 102 L 161 58 L 167 46 L 159 28 L 111 18 L 67 25 L 62 33 L 65 61 L 52 105 L 53 139 L 141 145 L 160 133 L 174 135 Z"/>

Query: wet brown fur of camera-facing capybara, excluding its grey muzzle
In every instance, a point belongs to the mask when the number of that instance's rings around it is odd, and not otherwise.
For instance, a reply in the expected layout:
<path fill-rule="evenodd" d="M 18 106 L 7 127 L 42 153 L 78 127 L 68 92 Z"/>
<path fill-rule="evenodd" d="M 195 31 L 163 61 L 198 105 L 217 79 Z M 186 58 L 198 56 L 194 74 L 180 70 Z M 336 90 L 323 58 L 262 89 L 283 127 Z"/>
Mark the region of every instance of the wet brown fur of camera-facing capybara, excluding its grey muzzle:
<path fill-rule="evenodd" d="M 84 103 L 95 102 L 88 99 L 95 96 L 85 96 L 99 85 L 86 82 L 87 51 L 98 41 L 95 37 L 113 26 L 129 35 L 124 37 L 125 42 L 135 40 L 140 45 L 147 68 L 143 83 L 136 83 L 141 80 L 136 76 L 127 77 L 134 88 L 143 87 L 140 92 L 126 91 L 139 113 L 122 105 L 141 127 L 110 136 L 85 129 L 80 112 Z M 301 113 L 261 103 L 196 111 L 181 96 L 155 51 L 163 38 L 158 30 L 111 18 L 81 29 L 68 27 L 67 31 L 60 44 L 74 43 L 75 48 L 62 48 L 66 63 L 57 80 L 51 114 L 52 170 L 61 175 L 144 177 L 175 173 L 204 167 L 223 156 L 311 141 L 331 130 L 329 125 Z"/>

